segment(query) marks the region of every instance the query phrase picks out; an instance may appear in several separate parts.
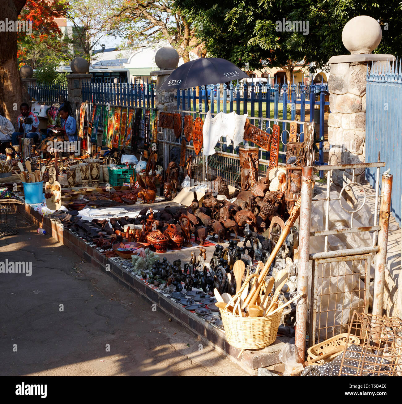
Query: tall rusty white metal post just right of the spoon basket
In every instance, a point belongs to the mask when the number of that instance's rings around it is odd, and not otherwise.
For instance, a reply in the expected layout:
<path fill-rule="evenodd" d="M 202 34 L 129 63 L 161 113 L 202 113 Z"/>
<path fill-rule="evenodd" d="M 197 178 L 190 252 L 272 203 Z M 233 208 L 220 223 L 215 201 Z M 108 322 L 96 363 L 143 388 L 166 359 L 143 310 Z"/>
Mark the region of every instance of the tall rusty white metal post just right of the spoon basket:
<path fill-rule="evenodd" d="M 295 344 L 297 361 L 304 362 L 306 348 L 307 323 L 307 287 L 309 281 L 310 259 L 310 217 L 311 217 L 311 175 L 312 167 L 303 167 L 301 177 L 301 205 L 299 221 L 299 271 L 297 274 L 297 292 L 302 297 L 296 308 Z"/>

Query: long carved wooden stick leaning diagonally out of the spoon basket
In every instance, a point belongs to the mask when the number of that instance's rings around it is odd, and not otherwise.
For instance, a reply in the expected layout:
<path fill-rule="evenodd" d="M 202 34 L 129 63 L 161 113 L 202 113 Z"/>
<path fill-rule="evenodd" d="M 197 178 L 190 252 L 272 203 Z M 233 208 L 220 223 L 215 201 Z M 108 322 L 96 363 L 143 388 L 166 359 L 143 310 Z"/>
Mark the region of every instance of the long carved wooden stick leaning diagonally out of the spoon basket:
<path fill-rule="evenodd" d="M 265 263 L 265 266 L 263 267 L 262 271 L 260 272 L 257 281 L 253 284 L 250 292 L 248 293 L 246 299 L 244 300 L 244 303 L 242 305 L 242 309 L 244 309 L 244 307 L 246 307 L 249 304 L 254 304 L 255 301 L 257 300 L 259 290 L 260 290 L 260 288 L 261 288 L 261 286 L 263 284 L 263 281 L 264 281 L 265 277 L 267 276 L 267 274 L 269 272 L 269 267 L 271 267 L 271 264 L 274 262 L 276 254 L 278 254 L 278 251 L 279 251 L 280 247 L 282 246 L 282 244 L 286 240 L 286 237 L 290 233 L 290 229 L 293 227 L 293 225 L 295 224 L 296 219 L 299 217 L 300 203 L 301 203 L 301 200 L 299 198 L 297 200 L 295 206 L 293 207 L 292 213 L 290 213 L 290 217 L 289 217 L 289 219 L 287 221 L 287 224 L 284 227 L 284 229 L 282 230 L 282 233 L 280 234 L 279 240 L 276 243 L 276 246 L 274 247 L 274 249 L 272 250 L 271 255 L 268 258 L 268 261 Z"/>

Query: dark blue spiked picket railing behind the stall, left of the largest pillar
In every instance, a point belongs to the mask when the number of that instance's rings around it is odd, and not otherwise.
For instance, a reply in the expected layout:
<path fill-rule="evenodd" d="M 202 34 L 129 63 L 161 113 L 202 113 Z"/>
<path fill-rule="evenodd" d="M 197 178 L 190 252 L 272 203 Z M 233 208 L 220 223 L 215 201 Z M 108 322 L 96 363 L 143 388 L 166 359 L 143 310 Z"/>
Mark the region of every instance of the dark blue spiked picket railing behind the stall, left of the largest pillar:
<path fill-rule="evenodd" d="M 222 86 L 222 87 L 221 87 Z M 39 86 L 38 86 L 39 87 Z M 63 92 L 55 92 L 57 86 L 32 87 L 30 95 L 37 95 L 38 101 L 51 104 L 63 101 L 67 98 L 67 88 Z M 60 87 L 60 86 L 59 86 Z M 222 89 L 222 93 L 221 93 Z M 95 104 L 111 104 L 123 107 L 155 108 L 155 84 L 152 83 L 92 83 L 82 84 L 82 99 Z M 210 108 L 211 113 L 233 112 L 237 114 L 249 114 L 250 117 L 264 117 L 283 120 L 298 120 L 305 122 L 305 115 L 309 114 L 309 122 L 313 120 L 319 126 L 317 141 L 319 142 L 318 164 L 324 162 L 324 114 L 325 107 L 329 105 L 325 101 L 328 95 L 327 84 L 320 85 L 296 85 L 266 83 L 238 83 L 215 84 L 200 88 L 197 95 L 195 87 L 188 90 L 177 90 L 176 101 L 178 110 L 201 110 L 206 112 Z M 269 94 L 269 97 L 267 96 Z M 62 95 L 62 96 L 61 96 Z M 288 107 L 289 110 L 288 110 Z M 281 116 L 280 116 L 281 115 Z M 254 123 L 254 120 L 251 120 Z"/>

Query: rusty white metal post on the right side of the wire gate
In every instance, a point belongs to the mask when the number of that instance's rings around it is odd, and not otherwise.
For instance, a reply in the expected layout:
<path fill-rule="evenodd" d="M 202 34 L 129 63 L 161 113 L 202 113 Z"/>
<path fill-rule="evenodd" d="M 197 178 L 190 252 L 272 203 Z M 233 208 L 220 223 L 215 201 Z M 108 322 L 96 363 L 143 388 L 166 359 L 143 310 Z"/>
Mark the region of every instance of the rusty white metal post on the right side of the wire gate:
<path fill-rule="evenodd" d="M 391 209 L 392 175 L 383 174 L 381 183 L 380 221 L 381 230 L 378 233 L 378 246 L 375 259 L 373 314 L 383 315 L 385 263 L 387 261 L 389 212 Z"/>

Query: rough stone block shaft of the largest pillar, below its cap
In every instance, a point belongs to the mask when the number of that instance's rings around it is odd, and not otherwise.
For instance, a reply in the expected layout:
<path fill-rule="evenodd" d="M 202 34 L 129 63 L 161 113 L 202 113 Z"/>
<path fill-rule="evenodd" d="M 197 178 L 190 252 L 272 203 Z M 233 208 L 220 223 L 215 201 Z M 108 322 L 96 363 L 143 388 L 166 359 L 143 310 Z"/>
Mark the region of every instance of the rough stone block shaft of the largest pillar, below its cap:
<path fill-rule="evenodd" d="M 370 63 L 369 63 L 370 69 Z M 328 142 L 330 164 L 364 162 L 366 140 L 366 73 L 367 63 L 331 63 L 328 79 L 330 114 Z M 355 170 L 357 181 L 364 169 Z M 351 178 L 351 173 L 345 173 Z M 333 171 L 333 182 L 343 186 L 343 171 Z"/>

